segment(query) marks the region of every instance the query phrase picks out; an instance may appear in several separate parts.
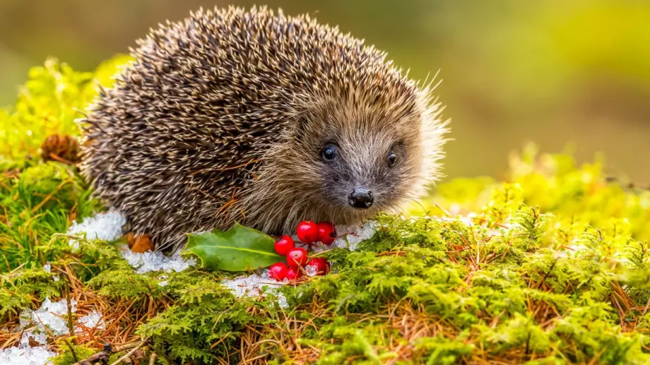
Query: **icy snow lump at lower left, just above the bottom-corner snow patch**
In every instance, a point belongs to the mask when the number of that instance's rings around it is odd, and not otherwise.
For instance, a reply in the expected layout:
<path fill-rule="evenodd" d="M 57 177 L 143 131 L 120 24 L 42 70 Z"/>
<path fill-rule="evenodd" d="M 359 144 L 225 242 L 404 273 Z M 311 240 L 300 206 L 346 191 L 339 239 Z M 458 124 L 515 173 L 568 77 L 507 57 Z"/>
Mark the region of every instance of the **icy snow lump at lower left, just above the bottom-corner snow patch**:
<path fill-rule="evenodd" d="M 70 301 L 72 313 L 76 312 L 77 301 L 72 299 Z M 37 332 L 45 332 L 45 326 L 49 328 L 52 335 L 66 335 L 68 324 L 64 318 L 68 315 L 68 301 L 61 299 L 60 301 L 50 301 L 45 298 L 41 307 L 36 311 L 25 309 L 20 313 L 20 325 L 28 325 L 30 322 L 36 323 Z"/>

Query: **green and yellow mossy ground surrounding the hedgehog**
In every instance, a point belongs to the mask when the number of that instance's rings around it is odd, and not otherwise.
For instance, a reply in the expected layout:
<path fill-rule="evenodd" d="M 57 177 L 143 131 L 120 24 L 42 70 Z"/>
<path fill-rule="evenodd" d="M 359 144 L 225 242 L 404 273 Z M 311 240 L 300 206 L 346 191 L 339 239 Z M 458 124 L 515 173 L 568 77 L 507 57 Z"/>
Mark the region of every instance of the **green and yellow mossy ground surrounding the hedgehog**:
<path fill-rule="evenodd" d="M 567 154 L 527 148 L 507 182 L 451 181 L 407 209 L 447 219 L 379 217 L 358 251 L 324 253 L 336 272 L 284 287 L 287 309 L 270 294 L 233 296 L 226 273 L 138 275 L 114 244 L 81 239 L 73 251 L 72 220 L 104 208 L 76 167 L 42 162 L 38 147 L 78 135 L 93 79 L 107 85 L 122 61 L 94 74 L 48 61 L 0 113 L 1 347 L 19 340 L 18 313 L 50 297 L 107 323 L 49 339 L 57 364 L 104 342 L 112 360 L 141 344 L 141 361 L 169 364 L 650 362 L 650 192 L 606 184 L 600 162 Z"/>

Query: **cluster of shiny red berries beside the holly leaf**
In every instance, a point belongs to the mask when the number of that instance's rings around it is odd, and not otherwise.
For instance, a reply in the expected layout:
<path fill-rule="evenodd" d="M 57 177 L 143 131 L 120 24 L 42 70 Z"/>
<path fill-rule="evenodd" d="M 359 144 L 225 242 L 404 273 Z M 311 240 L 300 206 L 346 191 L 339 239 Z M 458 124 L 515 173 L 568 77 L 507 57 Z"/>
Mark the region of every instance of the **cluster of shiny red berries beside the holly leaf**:
<path fill-rule="evenodd" d="M 334 226 L 328 222 L 314 223 L 305 220 L 298 224 L 296 235 L 300 241 L 305 244 L 313 244 L 320 241 L 326 245 L 331 245 L 336 239 Z M 329 263 L 321 257 L 314 257 L 307 261 L 307 250 L 302 247 L 296 247 L 295 242 L 290 236 L 283 236 L 276 241 L 275 245 L 278 255 L 287 256 L 287 264 L 274 263 L 268 268 L 268 275 L 278 281 L 285 278 L 295 280 L 302 276 L 306 265 L 311 265 L 317 270 L 317 275 L 329 273 Z"/>

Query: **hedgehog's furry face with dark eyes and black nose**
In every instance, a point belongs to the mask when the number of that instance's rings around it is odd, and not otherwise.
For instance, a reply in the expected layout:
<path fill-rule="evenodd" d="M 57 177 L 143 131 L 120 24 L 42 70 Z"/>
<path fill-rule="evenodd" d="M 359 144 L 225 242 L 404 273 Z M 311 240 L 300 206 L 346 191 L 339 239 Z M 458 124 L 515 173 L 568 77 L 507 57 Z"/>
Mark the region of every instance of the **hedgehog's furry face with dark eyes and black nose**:
<path fill-rule="evenodd" d="M 290 164 L 300 166 L 297 199 L 323 211 L 312 219 L 355 222 L 415 198 L 422 118 L 415 102 L 384 108 L 358 100 L 303 114 Z"/>

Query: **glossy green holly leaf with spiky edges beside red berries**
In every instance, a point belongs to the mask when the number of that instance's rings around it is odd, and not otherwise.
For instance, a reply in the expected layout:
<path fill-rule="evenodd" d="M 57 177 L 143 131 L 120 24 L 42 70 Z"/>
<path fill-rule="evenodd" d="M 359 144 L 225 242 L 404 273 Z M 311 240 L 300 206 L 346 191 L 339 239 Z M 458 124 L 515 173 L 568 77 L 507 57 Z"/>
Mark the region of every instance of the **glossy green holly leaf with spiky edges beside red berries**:
<path fill-rule="evenodd" d="M 283 261 L 273 249 L 276 240 L 256 229 L 235 224 L 228 231 L 188 234 L 187 246 L 182 254 L 194 254 L 201 259 L 202 267 L 211 270 L 247 271 L 266 268 Z"/>

